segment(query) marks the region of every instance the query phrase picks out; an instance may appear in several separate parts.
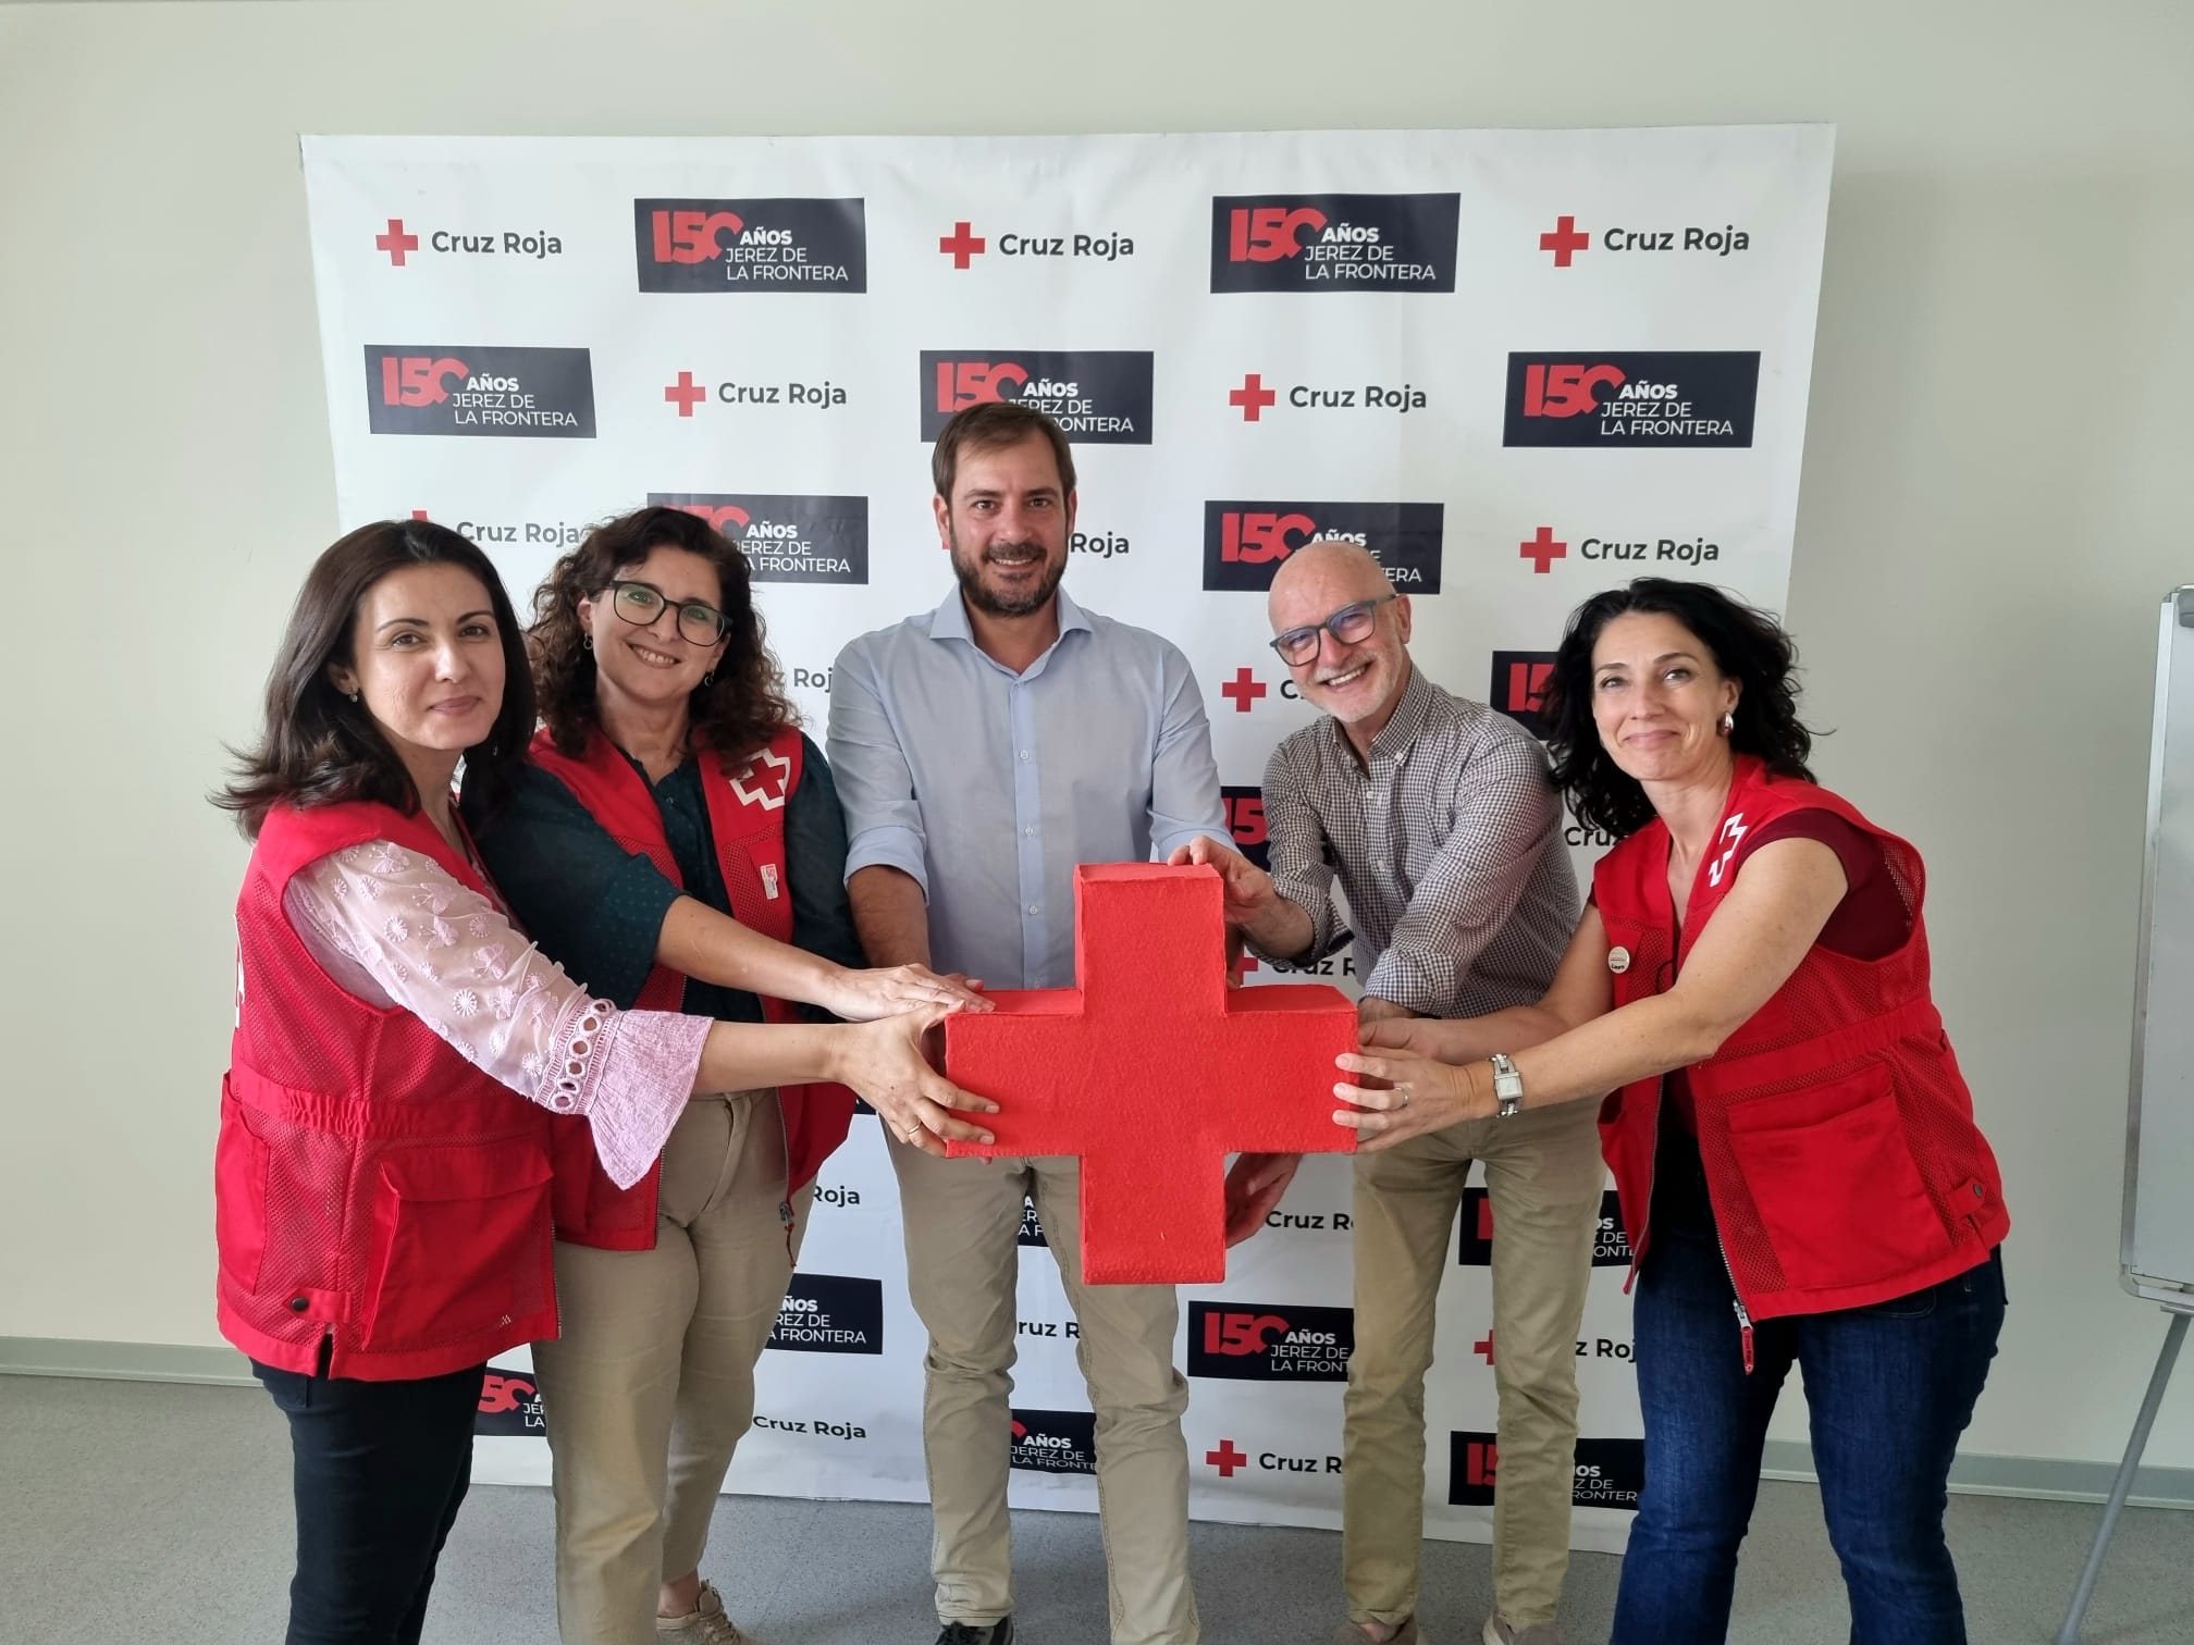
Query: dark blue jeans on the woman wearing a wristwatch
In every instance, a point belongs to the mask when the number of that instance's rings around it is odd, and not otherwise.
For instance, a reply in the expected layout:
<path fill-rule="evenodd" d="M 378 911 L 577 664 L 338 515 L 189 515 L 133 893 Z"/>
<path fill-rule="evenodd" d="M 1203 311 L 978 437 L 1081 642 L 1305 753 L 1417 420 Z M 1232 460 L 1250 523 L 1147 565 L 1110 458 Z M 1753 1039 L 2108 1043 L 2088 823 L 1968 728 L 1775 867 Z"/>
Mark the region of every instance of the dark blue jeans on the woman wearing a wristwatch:
<path fill-rule="evenodd" d="M 1687 1176 L 1698 1171 L 1698 1152 L 1681 1154 L 1661 1149 L 1663 1182 L 1639 1272 L 1646 1489 L 1610 1645 L 1716 1645 L 1729 1634 L 1738 1544 L 1792 1362 L 1806 1380 L 1821 1511 L 1852 1601 L 1852 1645 L 1966 1645 L 1957 1570 L 1942 1538 L 1944 1485 L 2003 1329 L 2003 1252 L 1876 1307 L 1762 1320 L 1746 1375 L 1705 1184 Z"/>

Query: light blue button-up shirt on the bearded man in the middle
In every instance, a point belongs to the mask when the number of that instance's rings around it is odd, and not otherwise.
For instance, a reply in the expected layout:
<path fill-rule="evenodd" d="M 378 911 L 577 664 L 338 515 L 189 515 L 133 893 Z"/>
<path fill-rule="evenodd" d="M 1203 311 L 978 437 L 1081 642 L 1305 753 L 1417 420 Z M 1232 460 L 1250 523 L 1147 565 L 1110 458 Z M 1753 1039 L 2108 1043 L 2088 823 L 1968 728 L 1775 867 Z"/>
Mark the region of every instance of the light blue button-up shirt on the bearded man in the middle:
<path fill-rule="evenodd" d="M 827 746 L 847 877 L 911 873 L 930 965 L 992 987 L 1075 985 L 1075 864 L 1229 838 L 1189 660 L 1066 590 L 1027 673 L 976 647 L 959 588 L 862 634 L 832 669 Z"/>

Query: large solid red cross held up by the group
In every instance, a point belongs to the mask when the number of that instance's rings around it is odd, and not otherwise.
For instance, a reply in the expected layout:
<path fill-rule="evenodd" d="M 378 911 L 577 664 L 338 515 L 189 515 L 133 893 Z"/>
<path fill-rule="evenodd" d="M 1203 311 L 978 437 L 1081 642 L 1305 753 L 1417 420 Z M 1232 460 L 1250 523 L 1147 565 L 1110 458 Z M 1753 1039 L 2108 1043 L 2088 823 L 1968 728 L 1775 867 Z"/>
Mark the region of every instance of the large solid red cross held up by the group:
<path fill-rule="evenodd" d="M 946 1075 L 998 1103 L 996 1143 L 952 1154 L 1082 1156 L 1082 1279 L 1226 1277 L 1231 1152 L 1345 1154 L 1334 1057 L 1356 1007 L 1323 983 L 1229 989 L 1211 869 L 1075 869 L 1077 989 L 992 994 L 946 1018 Z"/>

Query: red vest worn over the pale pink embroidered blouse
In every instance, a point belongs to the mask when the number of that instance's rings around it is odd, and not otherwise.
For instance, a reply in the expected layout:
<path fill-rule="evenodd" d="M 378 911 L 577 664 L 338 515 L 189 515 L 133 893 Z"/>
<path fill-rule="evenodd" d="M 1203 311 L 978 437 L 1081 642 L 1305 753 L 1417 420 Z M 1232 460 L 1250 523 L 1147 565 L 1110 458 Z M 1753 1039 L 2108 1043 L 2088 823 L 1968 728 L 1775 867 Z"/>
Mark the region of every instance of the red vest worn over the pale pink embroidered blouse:
<path fill-rule="evenodd" d="M 480 890 L 423 816 L 268 814 L 237 897 L 237 1033 L 213 1160 L 219 1327 L 283 1371 L 388 1382 L 555 1336 L 548 1114 L 312 958 L 290 877 L 395 840 Z"/>

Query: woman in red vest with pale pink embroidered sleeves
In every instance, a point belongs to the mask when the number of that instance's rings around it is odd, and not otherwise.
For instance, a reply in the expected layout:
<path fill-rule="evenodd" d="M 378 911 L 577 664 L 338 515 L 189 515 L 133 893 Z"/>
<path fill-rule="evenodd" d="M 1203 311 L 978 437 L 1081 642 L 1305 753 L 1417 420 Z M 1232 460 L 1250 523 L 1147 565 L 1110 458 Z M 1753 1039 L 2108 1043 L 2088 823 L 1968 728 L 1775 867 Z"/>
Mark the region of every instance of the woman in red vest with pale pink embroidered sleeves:
<path fill-rule="evenodd" d="M 744 1026 L 619 1011 L 507 919 L 452 809 L 533 691 L 494 566 L 419 520 L 314 564 L 217 803 L 255 840 L 215 1154 L 219 1327 L 290 1417 L 290 1645 L 415 1645 L 489 1355 L 555 1336 L 551 1116 L 636 1182 L 695 1090 L 965 1099 L 935 1013 Z M 939 1112 L 943 1112 L 939 1108 Z"/>

